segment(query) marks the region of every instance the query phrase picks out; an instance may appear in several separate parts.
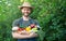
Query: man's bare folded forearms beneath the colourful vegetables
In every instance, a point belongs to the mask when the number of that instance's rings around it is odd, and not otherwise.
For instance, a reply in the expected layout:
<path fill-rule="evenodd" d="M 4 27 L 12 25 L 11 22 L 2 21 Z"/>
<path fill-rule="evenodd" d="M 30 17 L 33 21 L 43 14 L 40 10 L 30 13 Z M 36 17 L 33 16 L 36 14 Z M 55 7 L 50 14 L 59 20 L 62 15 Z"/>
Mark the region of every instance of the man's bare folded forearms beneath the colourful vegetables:
<path fill-rule="evenodd" d="M 37 37 L 37 33 L 31 32 L 30 35 L 20 35 L 18 32 L 12 32 L 12 37 L 15 39 L 25 39 Z"/>

